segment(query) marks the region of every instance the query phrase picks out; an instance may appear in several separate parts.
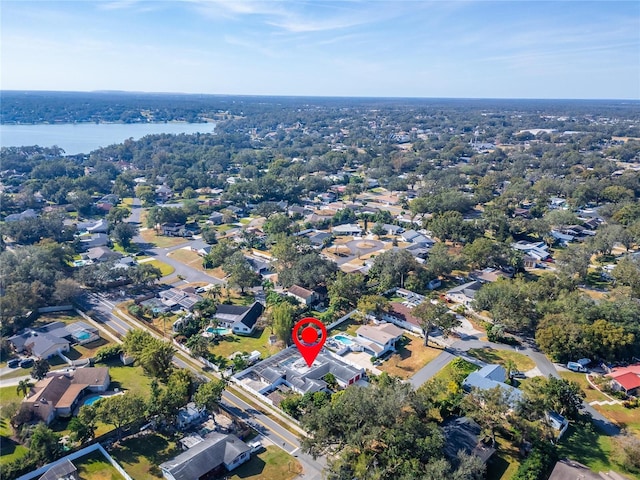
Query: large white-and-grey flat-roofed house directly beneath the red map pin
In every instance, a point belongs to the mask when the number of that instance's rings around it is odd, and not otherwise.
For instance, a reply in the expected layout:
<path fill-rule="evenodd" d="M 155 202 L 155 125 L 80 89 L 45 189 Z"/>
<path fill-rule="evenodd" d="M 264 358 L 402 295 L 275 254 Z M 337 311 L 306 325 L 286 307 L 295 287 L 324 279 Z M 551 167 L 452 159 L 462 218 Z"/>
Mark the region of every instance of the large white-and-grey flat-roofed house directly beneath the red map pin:
<path fill-rule="evenodd" d="M 286 348 L 234 378 L 246 388 L 269 397 L 278 391 L 294 391 L 301 395 L 328 391 L 325 377 L 329 373 L 343 388 L 364 378 L 362 367 L 348 365 L 324 350 L 309 367 L 296 347 Z"/>

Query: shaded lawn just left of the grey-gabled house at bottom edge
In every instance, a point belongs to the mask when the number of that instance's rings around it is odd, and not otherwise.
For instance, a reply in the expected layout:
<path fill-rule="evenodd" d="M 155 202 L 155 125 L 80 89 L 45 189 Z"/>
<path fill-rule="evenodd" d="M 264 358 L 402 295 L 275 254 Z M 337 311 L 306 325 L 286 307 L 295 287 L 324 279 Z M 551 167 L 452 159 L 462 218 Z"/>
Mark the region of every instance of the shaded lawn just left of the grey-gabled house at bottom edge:
<path fill-rule="evenodd" d="M 179 452 L 175 442 L 159 433 L 131 438 L 121 442 L 110 452 L 111 456 L 135 480 L 162 478 L 158 465 L 173 458 Z"/>

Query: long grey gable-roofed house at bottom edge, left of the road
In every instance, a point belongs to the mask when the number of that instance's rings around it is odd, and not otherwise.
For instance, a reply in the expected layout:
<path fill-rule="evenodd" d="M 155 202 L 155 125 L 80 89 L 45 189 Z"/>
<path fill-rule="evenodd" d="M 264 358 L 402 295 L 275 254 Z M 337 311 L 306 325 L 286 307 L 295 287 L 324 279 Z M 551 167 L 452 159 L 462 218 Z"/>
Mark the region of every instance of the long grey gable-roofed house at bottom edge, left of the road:
<path fill-rule="evenodd" d="M 214 478 L 216 473 L 230 472 L 249 458 L 251 449 L 235 435 L 210 433 L 187 451 L 161 463 L 160 470 L 167 480 Z"/>

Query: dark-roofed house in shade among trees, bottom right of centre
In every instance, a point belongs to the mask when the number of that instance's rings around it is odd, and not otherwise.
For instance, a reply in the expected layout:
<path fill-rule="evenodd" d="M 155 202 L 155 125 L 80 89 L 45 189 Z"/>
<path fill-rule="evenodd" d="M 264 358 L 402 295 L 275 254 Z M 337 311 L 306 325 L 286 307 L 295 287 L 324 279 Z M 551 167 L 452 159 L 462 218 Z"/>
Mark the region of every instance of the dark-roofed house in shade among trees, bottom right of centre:
<path fill-rule="evenodd" d="M 444 433 L 444 454 L 455 460 L 458 452 L 475 455 L 482 463 L 487 463 L 496 449 L 480 441 L 481 428 L 467 417 L 452 417 L 442 424 Z"/>

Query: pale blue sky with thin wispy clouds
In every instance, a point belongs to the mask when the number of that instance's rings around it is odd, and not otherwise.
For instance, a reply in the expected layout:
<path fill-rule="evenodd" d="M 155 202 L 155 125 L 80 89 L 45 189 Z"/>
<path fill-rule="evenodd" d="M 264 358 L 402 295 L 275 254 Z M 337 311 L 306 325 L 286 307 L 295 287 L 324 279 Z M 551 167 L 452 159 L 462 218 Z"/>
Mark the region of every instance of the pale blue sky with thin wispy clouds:
<path fill-rule="evenodd" d="M 0 3 L 0 87 L 640 99 L 640 2 Z"/>

